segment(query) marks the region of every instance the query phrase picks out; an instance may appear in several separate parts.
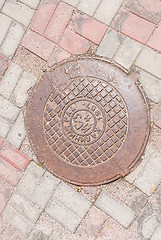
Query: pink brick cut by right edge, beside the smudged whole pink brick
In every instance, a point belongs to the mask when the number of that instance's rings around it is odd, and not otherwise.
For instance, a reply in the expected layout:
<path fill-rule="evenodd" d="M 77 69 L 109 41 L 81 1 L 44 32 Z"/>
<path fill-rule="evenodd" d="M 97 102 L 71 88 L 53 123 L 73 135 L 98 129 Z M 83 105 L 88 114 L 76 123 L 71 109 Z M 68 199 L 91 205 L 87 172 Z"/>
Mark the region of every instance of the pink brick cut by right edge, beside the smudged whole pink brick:
<path fill-rule="evenodd" d="M 161 52 L 161 22 L 150 37 L 147 45 Z"/>

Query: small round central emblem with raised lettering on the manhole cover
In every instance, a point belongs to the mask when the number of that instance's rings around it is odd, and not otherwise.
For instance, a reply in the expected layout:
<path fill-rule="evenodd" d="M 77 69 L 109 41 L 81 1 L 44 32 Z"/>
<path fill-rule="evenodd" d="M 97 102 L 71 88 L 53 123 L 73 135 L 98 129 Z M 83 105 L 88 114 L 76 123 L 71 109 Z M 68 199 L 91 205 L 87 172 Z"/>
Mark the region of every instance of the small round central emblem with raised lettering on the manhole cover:
<path fill-rule="evenodd" d="M 105 130 L 105 114 L 92 100 L 80 99 L 70 103 L 62 115 L 66 136 L 76 144 L 91 144 Z"/>

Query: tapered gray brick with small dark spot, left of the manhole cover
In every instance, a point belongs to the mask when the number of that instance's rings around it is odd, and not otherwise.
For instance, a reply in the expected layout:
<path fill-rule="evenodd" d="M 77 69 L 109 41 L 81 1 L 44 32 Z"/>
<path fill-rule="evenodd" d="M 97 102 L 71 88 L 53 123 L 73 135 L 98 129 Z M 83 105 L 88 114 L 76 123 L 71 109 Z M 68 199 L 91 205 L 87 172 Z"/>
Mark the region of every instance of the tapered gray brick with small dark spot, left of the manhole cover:
<path fill-rule="evenodd" d="M 24 141 L 26 136 L 25 132 L 25 124 L 24 124 L 24 117 L 22 112 L 20 112 L 18 118 L 14 122 L 11 130 L 8 133 L 7 140 L 11 143 L 14 147 L 20 148 L 22 142 Z"/>

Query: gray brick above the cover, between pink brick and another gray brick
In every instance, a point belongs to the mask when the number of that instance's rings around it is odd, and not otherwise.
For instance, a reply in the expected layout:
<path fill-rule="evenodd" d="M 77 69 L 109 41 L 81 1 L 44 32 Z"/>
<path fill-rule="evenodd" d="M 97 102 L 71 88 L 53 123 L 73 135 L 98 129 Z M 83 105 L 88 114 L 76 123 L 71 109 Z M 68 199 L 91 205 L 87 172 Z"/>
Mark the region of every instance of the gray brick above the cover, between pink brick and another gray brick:
<path fill-rule="evenodd" d="M 124 37 L 120 33 L 113 29 L 108 30 L 96 54 L 107 58 L 113 58 L 123 39 Z"/>

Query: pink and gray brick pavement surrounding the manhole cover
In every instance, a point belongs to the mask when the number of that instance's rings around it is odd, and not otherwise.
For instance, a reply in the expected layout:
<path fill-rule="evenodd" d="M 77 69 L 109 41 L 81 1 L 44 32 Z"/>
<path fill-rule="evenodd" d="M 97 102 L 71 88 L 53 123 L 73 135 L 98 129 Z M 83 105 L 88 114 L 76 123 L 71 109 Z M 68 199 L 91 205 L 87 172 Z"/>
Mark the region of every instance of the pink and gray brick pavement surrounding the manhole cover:
<path fill-rule="evenodd" d="M 66 184 L 39 166 L 24 124 L 42 73 L 84 54 L 137 72 L 151 113 L 138 167 L 91 188 Z M 160 239 L 160 66 L 160 0 L 0 1 L 0 239 Z"/>

